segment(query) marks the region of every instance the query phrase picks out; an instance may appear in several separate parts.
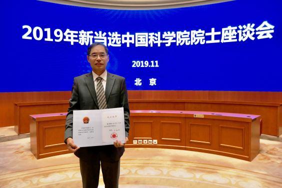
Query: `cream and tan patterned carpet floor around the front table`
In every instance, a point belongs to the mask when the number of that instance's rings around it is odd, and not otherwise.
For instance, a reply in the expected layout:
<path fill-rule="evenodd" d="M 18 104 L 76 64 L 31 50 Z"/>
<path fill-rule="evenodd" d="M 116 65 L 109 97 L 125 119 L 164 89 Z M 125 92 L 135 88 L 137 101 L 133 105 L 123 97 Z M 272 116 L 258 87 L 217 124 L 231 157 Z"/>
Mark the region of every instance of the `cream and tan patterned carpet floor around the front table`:
<path fill-rule="evenodd" d="M 82 187 L 71 154 L 36 159 L 30 138 L 0 142 L 0 187 Z M 260 139 L 251 162 L 186 150 L 126 148 L 119 187 L 282 188 L 282 142 Z M 104 187 L 100 174 L 99 187 Z"/>

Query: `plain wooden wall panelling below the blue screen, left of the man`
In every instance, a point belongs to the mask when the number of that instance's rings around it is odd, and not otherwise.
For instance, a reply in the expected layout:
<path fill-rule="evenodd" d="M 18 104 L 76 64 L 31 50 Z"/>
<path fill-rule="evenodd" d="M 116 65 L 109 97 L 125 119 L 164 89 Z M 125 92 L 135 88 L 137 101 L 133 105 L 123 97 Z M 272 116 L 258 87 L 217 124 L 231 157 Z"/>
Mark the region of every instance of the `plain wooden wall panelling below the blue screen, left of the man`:
<path fill-rule="evenodd" d="M 14 102 L 69 100 L 70 97 L 71 91 L 0 92 L 0 127 L 14 125 Z"/>

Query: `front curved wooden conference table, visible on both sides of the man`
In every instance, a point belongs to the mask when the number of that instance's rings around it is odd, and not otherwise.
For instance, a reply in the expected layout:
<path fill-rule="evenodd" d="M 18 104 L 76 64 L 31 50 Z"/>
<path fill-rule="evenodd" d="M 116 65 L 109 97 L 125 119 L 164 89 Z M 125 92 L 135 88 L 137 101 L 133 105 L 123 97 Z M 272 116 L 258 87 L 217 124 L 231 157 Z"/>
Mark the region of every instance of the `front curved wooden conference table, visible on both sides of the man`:
<path fill-rule="evenodd" d="M 29 115 L 29 119 L 30 148 L 37 159 L 69 153 L 64 143 L 65 112 Z M 259 153 L 260 115 L 130 110 L 129 119 L 126 148 L 182 149 L 247 161 Z M 133 144 L 133 141 L 139 143 Z"/>

